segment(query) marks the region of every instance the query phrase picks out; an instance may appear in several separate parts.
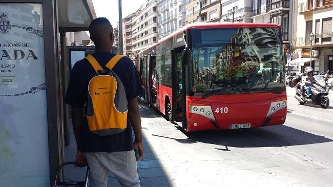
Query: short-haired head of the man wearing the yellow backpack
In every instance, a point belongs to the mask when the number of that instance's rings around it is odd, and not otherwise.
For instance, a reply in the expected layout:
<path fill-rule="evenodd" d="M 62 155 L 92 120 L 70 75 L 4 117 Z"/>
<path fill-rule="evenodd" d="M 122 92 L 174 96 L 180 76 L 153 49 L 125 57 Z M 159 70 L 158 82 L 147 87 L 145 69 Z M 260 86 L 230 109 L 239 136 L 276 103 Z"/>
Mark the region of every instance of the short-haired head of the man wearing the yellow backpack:
<path fill-rule="evenodd" d="M 113 45 L 113 28 L 105 17 L 94 19 L 89 25 L 90 39 L 96 47 L 111 47 Z"/>

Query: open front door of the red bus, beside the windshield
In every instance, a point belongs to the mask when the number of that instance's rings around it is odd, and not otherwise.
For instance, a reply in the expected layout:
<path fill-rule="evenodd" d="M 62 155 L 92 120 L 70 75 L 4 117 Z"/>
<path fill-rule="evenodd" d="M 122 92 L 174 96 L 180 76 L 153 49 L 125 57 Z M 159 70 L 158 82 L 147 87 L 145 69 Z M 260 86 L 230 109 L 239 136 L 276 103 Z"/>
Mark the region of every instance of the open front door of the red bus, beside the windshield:
<path fill-rule="evenodd" d="M 183 125 L 182 49 L 171 51 L 172 54 L 172 121 Z"/>

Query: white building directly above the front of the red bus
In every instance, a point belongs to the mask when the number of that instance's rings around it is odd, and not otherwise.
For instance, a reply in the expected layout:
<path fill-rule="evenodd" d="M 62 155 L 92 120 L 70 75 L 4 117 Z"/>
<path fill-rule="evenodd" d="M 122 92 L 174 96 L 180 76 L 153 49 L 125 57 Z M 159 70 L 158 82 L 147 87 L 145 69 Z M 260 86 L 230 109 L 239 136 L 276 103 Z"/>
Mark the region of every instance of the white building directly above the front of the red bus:
<path fill-rule="evenodd" d="M 251 23 L 252 1 L 222 0 L 221 22 Z"/>

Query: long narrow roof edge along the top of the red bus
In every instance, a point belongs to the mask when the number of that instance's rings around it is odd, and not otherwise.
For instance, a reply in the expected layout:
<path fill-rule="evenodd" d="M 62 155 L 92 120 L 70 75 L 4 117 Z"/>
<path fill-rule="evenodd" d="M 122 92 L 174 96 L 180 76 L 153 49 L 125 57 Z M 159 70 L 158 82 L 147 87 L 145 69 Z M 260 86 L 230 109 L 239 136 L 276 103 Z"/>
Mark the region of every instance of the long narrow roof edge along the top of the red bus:
<path fill-rule="evenodd" d="M 194 23 L 194 24 L 189 24 L 186 25 L 180 29 L 178 29 L 177 31 L 171 33 L 170 35 L 164 37 L 163 39 L 161 39 L 160 41 L 158 41 L 158 43 L 152 45 L 151 47 L 143 50 L 143 51 L 147 51 L 148 49 L 155 47 L 156 45 L 162 43 L 165 40 L 168 40 L 172 37 L 174 37 L 175 35 L 184 32 L 185 30 L 191 30 L 191 29 L 220 29 L 220 28 L 274 28 L 274 27 L 278 27 L 280 28 L 281 25 L 279 24 L 263 24 L 263 23 Z M 143 52 L 142 51 L 142 52 Z M 140 52 L 140 53 L 142 53 Z"/>

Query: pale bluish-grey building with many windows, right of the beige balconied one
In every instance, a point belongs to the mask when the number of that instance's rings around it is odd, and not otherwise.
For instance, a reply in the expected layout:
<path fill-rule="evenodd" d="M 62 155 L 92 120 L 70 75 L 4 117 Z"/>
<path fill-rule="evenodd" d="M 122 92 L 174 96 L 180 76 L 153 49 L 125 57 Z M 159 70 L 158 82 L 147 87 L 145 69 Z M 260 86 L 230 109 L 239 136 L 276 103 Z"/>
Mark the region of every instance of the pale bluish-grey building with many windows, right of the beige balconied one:
<path fill-rule="evenodd" d="M 158 0 L 158 36 L 165 37 L 185 22 L 185 0 Z"/>

